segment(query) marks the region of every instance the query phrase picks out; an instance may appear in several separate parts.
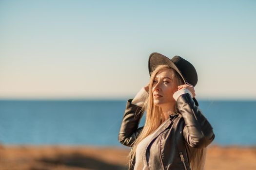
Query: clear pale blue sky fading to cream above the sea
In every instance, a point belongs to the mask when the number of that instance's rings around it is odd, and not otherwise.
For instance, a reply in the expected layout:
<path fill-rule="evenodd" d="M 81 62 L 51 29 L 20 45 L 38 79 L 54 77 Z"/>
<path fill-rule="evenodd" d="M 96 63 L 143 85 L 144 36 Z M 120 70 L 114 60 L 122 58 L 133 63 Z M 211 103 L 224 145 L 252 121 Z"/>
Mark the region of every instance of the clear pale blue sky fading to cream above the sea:
<path fill-rule="evenodd" d="M 0 98 L 130 98 L 152 52 L 198 99 L 256 99 L 256 1 L 0 0 Z"/>

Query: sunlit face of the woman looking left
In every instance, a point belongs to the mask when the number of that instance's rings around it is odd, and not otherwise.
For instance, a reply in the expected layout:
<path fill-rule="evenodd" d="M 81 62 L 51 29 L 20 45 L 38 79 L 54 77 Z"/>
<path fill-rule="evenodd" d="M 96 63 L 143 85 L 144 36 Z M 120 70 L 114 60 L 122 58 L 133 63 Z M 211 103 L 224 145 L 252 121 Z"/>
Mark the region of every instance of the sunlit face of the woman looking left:
<path fill-rule="evenodd" d="M 177 91 L 177 80 L 172 80 L 172 70 L 164 68 L 160 70 L 152 85 L 154 104 L 159 107 L 173 107 L 176 101 L 173 94 Z"/>

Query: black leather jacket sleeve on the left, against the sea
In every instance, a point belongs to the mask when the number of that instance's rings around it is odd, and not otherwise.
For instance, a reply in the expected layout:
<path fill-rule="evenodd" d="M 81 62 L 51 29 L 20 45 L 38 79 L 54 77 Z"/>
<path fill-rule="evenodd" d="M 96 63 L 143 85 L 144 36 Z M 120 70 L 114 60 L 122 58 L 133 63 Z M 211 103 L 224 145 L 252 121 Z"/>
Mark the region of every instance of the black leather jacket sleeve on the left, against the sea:
<path fill-rule="evenodd" d="M 118 141 L 125 146 L 133 146 L 133 142 L 143 129 L 143 127 L 138 128 L 138 124 L 144 111 L 141 107 L 131 102 L 132 99 L 128 100 L 126 104 L 121 128 L 118 134 Z"/>

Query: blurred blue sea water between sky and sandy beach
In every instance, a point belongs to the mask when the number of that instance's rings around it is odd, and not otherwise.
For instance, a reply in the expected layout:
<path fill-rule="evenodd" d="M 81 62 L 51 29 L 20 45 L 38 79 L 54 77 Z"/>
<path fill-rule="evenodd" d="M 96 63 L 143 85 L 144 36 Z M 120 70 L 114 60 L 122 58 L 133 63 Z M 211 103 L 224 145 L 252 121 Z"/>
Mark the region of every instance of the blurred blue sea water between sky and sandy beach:
<path fill-rule="evenodd" d="M 126 101 L 0 101 L 0 143 L 121 146 Z M 199 101 L 212 144 L 256 145 L 256 101 Z M 143 125 L 143 116 L 140 126 Z"/>

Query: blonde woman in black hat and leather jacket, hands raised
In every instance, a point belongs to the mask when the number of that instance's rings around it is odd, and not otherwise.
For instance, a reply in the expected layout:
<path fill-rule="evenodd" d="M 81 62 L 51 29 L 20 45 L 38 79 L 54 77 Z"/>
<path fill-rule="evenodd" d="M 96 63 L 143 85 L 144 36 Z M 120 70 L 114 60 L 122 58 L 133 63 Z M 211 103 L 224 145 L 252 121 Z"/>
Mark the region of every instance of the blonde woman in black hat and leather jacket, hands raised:
<path fill-rule="evenodd" d="M 127 102 L 118 134 L 120 143 L 132 147 L 129 170 L 203 170 L 215 135 L 195 99 L 196 69 L 179 56 L 155 52 L 149 72 L 148 87 Z M 138 128 L 145 109 L 145 125 Z"/>

